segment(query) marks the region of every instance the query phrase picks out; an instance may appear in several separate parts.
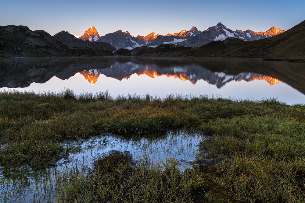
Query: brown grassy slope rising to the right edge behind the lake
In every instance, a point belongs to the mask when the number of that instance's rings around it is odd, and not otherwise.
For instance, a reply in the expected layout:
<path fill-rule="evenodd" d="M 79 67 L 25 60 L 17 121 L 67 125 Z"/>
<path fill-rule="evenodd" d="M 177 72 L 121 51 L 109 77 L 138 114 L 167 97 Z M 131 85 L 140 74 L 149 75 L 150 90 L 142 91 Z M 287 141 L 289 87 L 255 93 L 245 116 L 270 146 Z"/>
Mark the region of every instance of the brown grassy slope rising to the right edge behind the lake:
<path fill-rule="evenodd" d="M 305 61 L 305 20 L 273 37 L 244 41 L 227 38 L 173 56 L 264 57 Z"/>

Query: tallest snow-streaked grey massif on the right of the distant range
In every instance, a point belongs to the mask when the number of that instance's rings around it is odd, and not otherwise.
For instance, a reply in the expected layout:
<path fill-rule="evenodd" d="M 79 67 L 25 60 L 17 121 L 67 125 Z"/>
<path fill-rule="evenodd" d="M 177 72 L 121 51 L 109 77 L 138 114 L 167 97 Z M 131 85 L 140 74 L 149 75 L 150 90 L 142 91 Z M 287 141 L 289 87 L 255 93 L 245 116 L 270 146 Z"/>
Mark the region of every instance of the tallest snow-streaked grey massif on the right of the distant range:
<path fill-rule="evenodd" d="M 272 37 L 282 32 L 285 32 L 285 30 L 276 29 L 274 26 L 272 26 L 271 29 L 267 30 L 266 32 L 254 32 L 252 30 L 233 31 L 224 26 L 224 24 L 218 23 L 216 26 L 209 27 L 202 33 L 190 37 L 185 41 L 178 42 L 177 44 L 194 48 L 207 44 L 211 41 L 225 40 L 228 37 L 235 37 L 244 41 L 252 41 Z"/>

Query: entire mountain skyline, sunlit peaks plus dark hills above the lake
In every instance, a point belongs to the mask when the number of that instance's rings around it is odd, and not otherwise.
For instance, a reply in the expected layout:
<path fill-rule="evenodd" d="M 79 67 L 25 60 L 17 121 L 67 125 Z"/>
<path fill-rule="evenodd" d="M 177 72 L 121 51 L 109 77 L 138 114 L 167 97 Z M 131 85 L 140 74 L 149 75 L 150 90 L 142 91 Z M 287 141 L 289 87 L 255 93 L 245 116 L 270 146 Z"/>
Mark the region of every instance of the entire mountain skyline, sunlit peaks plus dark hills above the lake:
<path fill-rule="evenodd" d="M 88 30 L 87 30 L 88 31 Z M 215 56 L 305 60 L 305 21 L 287 31 L 232 31 L 218 23 L 201 32 L 192 27 L 165 36 L 132 37 L 118 30 L 98 37 L 94 26 L 82 40 L 65 31 L 54 36 L 27 26 L 0 26 L 0 58 L 54 56 Z M 91 40 L 91 41 L 90 41 Z M 250 40 L 250 41 L 249 41 Z M 252 41 L 251 41 L 252 40 Z M 108 41 L 108 42 L 105 42 Z M 203 44 L 200 46 L 200 44 Z M 183 45 L 183 46 L 181 46 Z M 195 46 L 195 48 L 193 48 Z M 120 48 L 119 47 L 125 47 Z M 134 47 L 134 48 L 133 48 Z M 272 60 L 273 60 L 272 59 Z"/>

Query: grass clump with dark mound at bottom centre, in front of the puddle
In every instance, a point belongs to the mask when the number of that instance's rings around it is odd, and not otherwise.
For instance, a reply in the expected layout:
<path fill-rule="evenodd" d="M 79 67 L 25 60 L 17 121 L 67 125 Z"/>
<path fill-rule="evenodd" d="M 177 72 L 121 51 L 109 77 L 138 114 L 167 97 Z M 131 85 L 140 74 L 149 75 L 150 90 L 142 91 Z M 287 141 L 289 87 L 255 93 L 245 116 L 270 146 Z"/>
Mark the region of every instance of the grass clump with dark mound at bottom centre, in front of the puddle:
<path fill-rule="evenodd" d="M 96 165 L 91 176 L 74 167 L 58 177 L 56 202 L 192 202 L 204 181 L 197 170 L 181 174 L 174 159 L 135 166 L 127 152 L 110 152 Z"/>

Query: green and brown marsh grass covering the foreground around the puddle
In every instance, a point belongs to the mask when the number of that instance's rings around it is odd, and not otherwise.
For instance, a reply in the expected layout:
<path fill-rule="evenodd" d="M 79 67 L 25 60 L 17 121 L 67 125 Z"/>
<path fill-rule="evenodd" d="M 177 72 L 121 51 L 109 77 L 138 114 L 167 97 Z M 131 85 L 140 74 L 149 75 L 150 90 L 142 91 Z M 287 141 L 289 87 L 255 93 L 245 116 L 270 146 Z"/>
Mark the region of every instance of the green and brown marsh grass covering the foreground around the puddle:
<path fill-rule="evenodd" d="M 165 99 L 149 95 L 112 97 L 107 93 L 74 96 L 70 90 L 41 95 L 0 93 L 0 163 L 7 175 L 11 168 L 24 164 L 37 170 L 52 165 L 68 150 L 59 145 L 64 139 L 85 138 L 101 131 L 143 136 L 175 128 L 210 135 L 203 140 L 202 149 L 219 163 L 198 165 L 183 176 L 176 170 L 161 171 L 160 165 L 152 170 L 147 167 L 134 169 L 124 161 L 110 172 L 99 167 L 94 178 L 80 176 L 76 170 L 71 170 L 69 181 L 63 183 L 77 182 L 60 187 L 62 200 L 65 200 L 65 189 L 72 186 L 77 188 L 69 191 L 103 195 L 98 191 L 105 188 L 94 188 L 102 187 L 105 181 L 109 184 L 105 191 L 111 191 L 111 185 L 119 184 L 134 183 L 145 188 L 144 183 L 147 183 L 147 188 L 152 188 L 148 180 L 153 180 L 160 185 L 167 183 L 160 187 L 161 191 L 174 199 L 169 200 L 164 195 L 161 198 L 150 196 L 147 202 L 305 202 L 304 105 L 288 106 L 272 99 L 231 101 L 204 96 L 168 96 Z M 175 169 L 175 165 L 170 166 Z M 85 181 L 87 184 L 83 184 Z M 90 185 L 90 190 L 85 190 L 84 186 Z M 145 202 L 141 197 L 148 189 L 145 192 L 137 188 L 129 187 L 116 193 L 130 199 L 88 197 L 88 202 Z M 118 190 L 117 187 L 115 191 Z M 188 192 L 181 193 L 181 190 Z M 134 199 L 136 193 L 140 195 L 138 200 Z"/>

